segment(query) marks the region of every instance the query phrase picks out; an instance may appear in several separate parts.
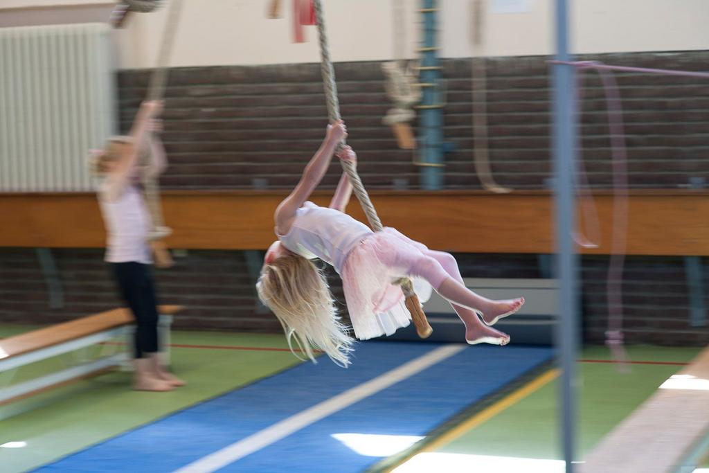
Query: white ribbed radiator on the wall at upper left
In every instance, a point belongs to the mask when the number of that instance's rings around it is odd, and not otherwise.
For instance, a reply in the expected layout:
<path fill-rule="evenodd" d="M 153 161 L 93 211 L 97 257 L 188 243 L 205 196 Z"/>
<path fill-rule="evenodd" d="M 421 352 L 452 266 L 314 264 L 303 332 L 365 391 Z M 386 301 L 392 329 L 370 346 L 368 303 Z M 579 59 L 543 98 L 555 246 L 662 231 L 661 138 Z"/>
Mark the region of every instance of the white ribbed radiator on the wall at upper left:
<path fill-rule="evenodd" d="M 0 192 L 89 191 L 116 130 L 111 29 L 0 28 Z"/>

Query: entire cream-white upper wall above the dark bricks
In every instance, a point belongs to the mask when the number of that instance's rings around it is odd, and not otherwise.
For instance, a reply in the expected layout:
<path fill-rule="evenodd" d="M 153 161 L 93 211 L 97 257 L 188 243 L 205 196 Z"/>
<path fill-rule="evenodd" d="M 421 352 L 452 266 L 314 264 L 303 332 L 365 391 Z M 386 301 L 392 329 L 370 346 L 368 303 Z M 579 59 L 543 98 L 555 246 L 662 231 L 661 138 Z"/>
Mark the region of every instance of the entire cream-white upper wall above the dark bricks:
<path fill-rule="evenodd" d="M 324 0 L 335 61 L 393 57 L 393 0 Z M 422 0 L 406 4 L 406 38 L 411 55 L 418 41 L 416 13 Z M 0 0 L 3 9 L 110 4 L 106 0 Z M 268 0 L 184 0 L 172 65 L 261 65 L 316 62 L 316 31 L 307 43 L 292 43 L 291 1 L 285 17 L 267 18 Z M 439 0 L 444 57 L 469 57 L 471 0 Z M 548 55 L 552 51 L 554 0 L 488 0 L 486 55 Z M 494 13 L 501 4 L 520 4 L 518 13 Z M 88 7 L 87 7 L 88 8 Z M 632 52 L 709 49 L 709 0 L 571 0 L 575 52 Z M 162 34 L 164 9 L 135 15 L 117 32 L 122 67 L 152 67 Z M 28 19 L 28 21 L 31 21 Z"/>

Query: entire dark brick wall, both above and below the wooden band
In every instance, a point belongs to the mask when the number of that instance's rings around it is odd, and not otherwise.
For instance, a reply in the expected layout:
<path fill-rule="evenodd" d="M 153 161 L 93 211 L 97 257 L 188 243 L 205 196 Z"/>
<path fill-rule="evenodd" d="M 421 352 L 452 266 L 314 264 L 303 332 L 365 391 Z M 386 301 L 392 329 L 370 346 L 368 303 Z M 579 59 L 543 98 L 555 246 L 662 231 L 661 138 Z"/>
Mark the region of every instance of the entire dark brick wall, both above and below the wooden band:
<path fill-rule="evenodd" d="M 549 78 L 545 57 L 491 58 L 489 124 L 491 160 L 498 182 L 538 189 L 549 177 Z M 709 52 L 613 54 L 583 59 L 609 64 L 702 69 Z M 445 186 L 479 187 L 472 165 L 469 60 L 445 60 L 445 135 L 457 148 L 447 156 Z M 384 77 L 372 62 L 336 67 L 350 143 L 359 152 L 359 172 L 369 188 L 408 179 L 418 187 L 410 152 L 398 150 L 381 117 L 389 108 Z M 127 128 L 145 94 L 147 74 L 120 74 L 121 119 Z M 668 188 L 709 171 L 709 85 L 698 79 L 618 74 L 622 89 L 632 187 Z M 597 77 L 584 92 L 583 148 L 591 184 L 608 187 L 610 149 L 605 104 Z M 164 187 L 249 188 L 253 179 L 271 187 L 296 182 L 316 150 L 325 126 L 317 65 L 175 69 L 165 111 L 171 167 Z M 325 186 L 340 172 L 333 165 Z M 99 250 L 53 250 L 65 306 L 49 308 L 34 250 L 0 249 L 0 321 L 48 323 L 118 304 Z M 457 255 L 467 277 L 540 277 L 536 255 Z M 278 331 L 259 313 L 253 281 L 242 252 L 190 251 L 176 268 L 159 272 L 162 301 L 189 310 L 178 326 Z M 584 334 L 601 342 L 605 330 L 607 257 L 584 257 Z M 709 272 L 707 260 L 703 261 Z M 705 282 L 705 286 L 707 283 Z M 335 294 L 340 296 L 337 279 Z M 708 291 L 709 287 L 705 287 Z M 681 258 L 630 257 L 624 281 L 626 336 L 632 343 L 705 344 L 709 328 L 688 323 L 688 287 Z"/>

